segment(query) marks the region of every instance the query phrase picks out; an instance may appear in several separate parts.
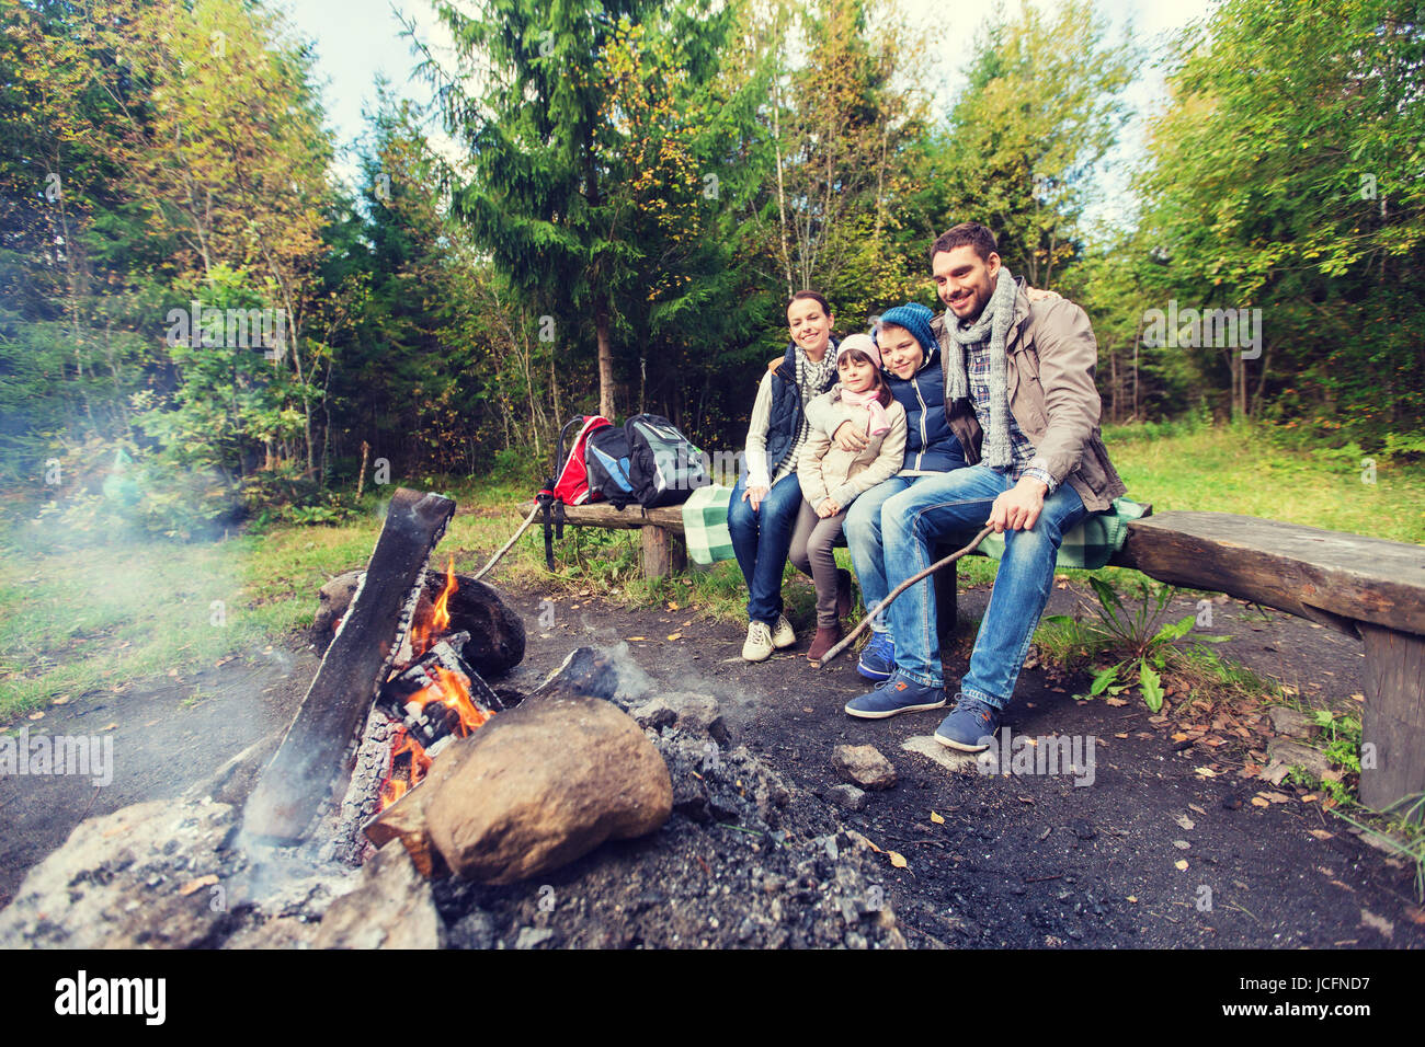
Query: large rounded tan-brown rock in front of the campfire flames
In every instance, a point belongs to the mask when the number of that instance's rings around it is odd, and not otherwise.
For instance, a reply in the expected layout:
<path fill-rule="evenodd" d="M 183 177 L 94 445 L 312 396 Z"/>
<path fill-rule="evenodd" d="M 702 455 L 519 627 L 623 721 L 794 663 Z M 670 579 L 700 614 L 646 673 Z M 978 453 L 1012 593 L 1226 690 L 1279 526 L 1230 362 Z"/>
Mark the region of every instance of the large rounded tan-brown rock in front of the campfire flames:
<path fill-rule="evenodd" d="M 606 701 L 563 694 L 529 698 L 449 745 L 419 792 L 446 865 L 484 883 L 643 836 L 673 809 L 668 768 L 638 725 Z"/>

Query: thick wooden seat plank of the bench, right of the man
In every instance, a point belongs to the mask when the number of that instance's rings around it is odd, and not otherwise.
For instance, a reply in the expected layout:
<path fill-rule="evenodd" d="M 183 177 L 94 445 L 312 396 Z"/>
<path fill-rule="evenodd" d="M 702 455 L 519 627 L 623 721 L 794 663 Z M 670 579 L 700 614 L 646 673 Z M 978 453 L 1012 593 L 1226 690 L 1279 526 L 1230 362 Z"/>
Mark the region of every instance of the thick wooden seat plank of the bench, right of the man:
<path fill-rule="evenodd" d="M 1134 520 L 1110 561 L 1359 637 L 1364 621 L 1425 635 L 1425 548 L 1231 513 Z"/>

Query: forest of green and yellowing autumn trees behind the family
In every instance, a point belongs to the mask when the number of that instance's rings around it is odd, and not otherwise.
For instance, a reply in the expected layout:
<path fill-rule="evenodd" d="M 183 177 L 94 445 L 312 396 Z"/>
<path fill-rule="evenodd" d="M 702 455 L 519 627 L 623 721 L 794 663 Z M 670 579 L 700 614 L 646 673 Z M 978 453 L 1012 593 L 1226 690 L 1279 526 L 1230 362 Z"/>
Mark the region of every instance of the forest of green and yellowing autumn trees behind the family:
<path fill-rule="evenodd" d="M 4 509 L 335 523 L 363 467 L 533 483 L 596 410 L 735 450 L 788 295 L 842 333 L 935 308 L 965 219 L 1087 309 L 1106 424 L 1247 424 L 1374 481 L 1425 456 L 1421 13 L 1221 0 L 1150 46 L 1092 0 L 986 7 L 936 105 L 946 30 L 884 0 L 435 3 L 435 104 L 379 85 L 343 178 L 281 10 L 0 0 Z"/>

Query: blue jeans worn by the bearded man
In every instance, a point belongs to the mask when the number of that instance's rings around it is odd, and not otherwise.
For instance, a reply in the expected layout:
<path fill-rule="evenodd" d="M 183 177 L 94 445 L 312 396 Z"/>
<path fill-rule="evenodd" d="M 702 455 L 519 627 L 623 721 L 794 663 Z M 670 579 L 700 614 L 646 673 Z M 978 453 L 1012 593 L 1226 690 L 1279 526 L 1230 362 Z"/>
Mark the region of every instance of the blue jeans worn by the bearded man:
<path fill-rule="evenodd" d="M 942 537 L 973 536 L 989 520 L 995 499 L 1015 481 L 986 466 L 956 469 L 886 499 L 881 506 L 885 577 L 896 583 L 923 571 Z M 1087 516 L 1067 483 L 1045 499 L 1032 530 L 1005 531 L 1005 556 L 990 590 L 989 608 L 975 637 L 970 671 L 960 681 L 966 698 L 1003 709 L 1029 652 L 1039 615 L 1049 603 L 1054 560 L 1063 536 Z M 940 650 L 931 578 L 902 593 L 886 610 L 895 640 L 896 671 L 926 687 L 939 687 Z"/>

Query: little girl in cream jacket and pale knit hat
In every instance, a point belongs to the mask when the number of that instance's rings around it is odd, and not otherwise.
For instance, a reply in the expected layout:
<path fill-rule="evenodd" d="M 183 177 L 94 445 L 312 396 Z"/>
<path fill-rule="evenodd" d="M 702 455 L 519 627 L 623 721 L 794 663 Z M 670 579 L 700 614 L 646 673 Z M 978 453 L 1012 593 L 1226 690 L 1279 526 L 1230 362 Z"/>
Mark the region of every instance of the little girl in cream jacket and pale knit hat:
<path fill-rule="evenodd" d="M 807 405 L 811 434 L 797 464 L 805 501 L 792 533 L 791 558 L 817 584 L 817 637 L 807 657 L 821 658 L 841 640 L 841 618 L 851 611 L 851 575 L 836 568 L 832 543 L 846 509 L 862 491 L 891 479 L 905 460 L 905 409 L 881 376 L 881 352 L 866 335 L 851 335 L 836 348 L 831 392 Z M 842 424 L 865 436 L 859 450 L 842 450 L 832 433 Z"/>

